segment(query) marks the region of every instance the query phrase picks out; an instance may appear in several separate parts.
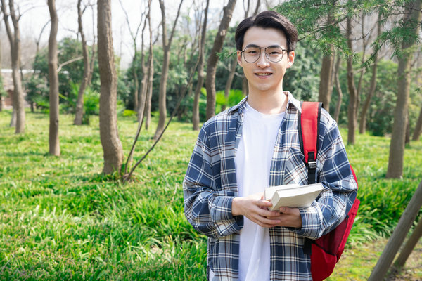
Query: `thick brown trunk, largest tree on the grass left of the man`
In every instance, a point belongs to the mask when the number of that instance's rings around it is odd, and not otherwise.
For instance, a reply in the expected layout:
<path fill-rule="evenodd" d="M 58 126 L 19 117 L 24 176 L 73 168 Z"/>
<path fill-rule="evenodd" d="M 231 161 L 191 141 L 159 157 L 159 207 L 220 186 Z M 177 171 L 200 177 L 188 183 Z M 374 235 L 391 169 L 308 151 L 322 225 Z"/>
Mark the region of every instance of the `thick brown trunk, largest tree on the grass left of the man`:
<path fill-rule="evenodd" d="M 117 74 L 111 33 L 110 0 L 98 0 L 98 67 L 101 80 L 100 136 L 103 146 L 104 174 L 119 171 L 123 149 L 117 132 Z"/>

